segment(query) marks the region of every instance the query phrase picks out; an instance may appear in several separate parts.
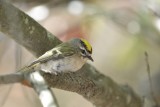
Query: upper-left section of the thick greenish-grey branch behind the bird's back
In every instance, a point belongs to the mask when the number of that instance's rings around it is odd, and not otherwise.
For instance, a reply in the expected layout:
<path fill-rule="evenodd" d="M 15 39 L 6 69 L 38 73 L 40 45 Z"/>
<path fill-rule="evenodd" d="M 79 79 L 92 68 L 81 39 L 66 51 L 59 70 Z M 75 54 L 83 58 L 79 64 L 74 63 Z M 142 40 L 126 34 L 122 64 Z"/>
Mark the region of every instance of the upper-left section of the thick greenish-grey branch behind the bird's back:
<path fill-rule="evenodd" d="M 0 0 L 0 31 L 40 56 L 61 41 L 24 12 Z"/>

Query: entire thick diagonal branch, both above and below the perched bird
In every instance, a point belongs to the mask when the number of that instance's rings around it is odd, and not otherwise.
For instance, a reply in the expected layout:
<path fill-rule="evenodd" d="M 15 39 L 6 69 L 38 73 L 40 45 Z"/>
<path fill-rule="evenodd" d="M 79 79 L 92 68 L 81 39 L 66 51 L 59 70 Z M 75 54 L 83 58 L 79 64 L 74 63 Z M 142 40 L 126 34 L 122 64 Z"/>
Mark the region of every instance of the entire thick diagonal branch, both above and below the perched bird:
<path fill-rule="evenodd" d="M 61 43 L 29 16 L 3 0 L 0 0 L 0 31 L 35 56 Z M 116 84 L 89 64 L 75 73 L 57 76 L 43 73 L 43 76 L 51 87 L 76 92 L 97 107 L 143 107 L 140 97 L 132 89 Z"/>

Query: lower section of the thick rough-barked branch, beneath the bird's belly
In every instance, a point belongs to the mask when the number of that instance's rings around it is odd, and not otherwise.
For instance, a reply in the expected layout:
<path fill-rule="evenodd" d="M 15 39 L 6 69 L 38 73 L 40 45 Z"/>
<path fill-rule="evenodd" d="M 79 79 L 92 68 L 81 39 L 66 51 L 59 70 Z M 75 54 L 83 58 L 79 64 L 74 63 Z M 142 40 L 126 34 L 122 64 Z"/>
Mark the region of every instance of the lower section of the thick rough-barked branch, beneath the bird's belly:
<path fill-rule="evenodd" d="M 89 64 L 75 73 L 43 75 L 51 87 L 76 92 L 97 107 L 142 107 L 140 98 L 129 87 L 119 86 Z"/>

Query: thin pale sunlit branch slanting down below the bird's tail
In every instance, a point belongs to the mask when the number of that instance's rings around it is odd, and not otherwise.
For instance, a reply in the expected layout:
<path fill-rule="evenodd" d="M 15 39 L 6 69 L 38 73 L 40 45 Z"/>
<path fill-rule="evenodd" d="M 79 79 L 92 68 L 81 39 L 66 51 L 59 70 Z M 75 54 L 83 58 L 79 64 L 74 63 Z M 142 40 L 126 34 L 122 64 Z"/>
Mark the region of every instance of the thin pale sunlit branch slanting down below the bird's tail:
<path fill-rule="evenodd" d="M 25 77 L 34 87 L 43 107 L 59 107 L 56 97 L 39 71 L 28 73 Z"/>

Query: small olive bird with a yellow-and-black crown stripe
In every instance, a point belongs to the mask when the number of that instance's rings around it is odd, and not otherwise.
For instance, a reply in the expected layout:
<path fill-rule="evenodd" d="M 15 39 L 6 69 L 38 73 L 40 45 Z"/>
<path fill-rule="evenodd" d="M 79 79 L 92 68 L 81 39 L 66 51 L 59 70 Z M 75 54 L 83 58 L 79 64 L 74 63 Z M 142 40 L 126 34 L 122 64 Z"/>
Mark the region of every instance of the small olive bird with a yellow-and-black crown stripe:
<path fill-rule="evenodd" d="M 85 39 L 74 38 L 47 51 L 29 66 L 35 70 L 56 74 L 60 72 L 75 72 L 79 70 L 87 60 L 93 61 L 92 47 Z"/>

